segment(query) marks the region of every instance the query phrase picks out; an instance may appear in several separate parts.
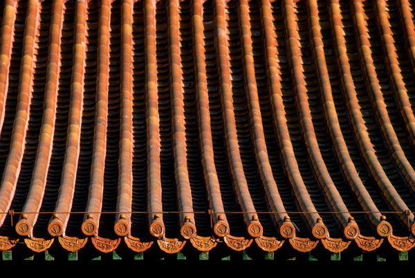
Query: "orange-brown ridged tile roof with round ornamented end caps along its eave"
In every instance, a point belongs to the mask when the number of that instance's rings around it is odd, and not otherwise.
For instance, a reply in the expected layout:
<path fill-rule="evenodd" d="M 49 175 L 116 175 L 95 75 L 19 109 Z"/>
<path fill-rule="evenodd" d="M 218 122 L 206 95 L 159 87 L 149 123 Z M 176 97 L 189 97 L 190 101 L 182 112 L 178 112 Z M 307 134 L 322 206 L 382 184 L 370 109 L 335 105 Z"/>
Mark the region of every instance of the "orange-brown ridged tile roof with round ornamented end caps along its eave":
<path fill-rule="evenodd" d="M 0 250 L 411 250 L 413 9 L 4 0 Z"/>

